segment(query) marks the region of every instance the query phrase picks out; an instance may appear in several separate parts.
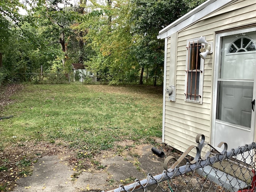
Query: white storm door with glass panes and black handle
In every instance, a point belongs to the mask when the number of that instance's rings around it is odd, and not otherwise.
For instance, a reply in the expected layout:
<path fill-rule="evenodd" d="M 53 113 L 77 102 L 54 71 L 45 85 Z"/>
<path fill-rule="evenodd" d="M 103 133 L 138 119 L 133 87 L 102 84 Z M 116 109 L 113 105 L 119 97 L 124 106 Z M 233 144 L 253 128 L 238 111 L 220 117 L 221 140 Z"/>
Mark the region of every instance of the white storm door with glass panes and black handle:
<path fill-rule="evenodd" d="M 219 37 L 213 145 L 228 149 L 253 142 L 255 127 L 256 32 Z"/>

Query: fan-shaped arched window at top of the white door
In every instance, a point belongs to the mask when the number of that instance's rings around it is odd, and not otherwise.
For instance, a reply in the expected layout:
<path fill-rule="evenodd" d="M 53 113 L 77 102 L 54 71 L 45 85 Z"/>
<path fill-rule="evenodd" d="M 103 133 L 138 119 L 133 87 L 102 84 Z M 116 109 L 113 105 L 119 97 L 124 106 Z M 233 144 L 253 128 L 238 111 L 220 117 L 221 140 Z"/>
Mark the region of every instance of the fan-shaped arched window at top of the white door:
<path fill-rule="evenodd" d="M 230 44 L 228 53 L 255 51 L 254 42 L 247 36 L 240 36 Z"/>

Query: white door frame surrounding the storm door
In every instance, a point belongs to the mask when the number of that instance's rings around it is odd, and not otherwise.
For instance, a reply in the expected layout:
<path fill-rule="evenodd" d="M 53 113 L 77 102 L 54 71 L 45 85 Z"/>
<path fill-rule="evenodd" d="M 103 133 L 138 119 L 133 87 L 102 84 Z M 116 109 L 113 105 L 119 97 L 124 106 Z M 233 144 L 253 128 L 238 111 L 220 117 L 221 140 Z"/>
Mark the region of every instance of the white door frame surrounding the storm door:
<path fill-rule="evenodd" d="M 220 70 L 220 63 L 221 63 L 221 48 L 222 48 L 222 37 L 224 36 L 229 36 L 229 35 L 235 35 L 235 34 L 242 34 L 242 33 L 247 33 L 247 32 L 253 32 L 256 31 L 256 27 L 253 28 L 244 28 L 244 29 L 240 29 L 240 30 L 233 30 L 233 31 L 228 31 L 228 32 L 220 32 L 220 33 L 216 33 L 215 34 L 215 56 L 214 56 L 214 71 L 213 71 L 213 84 L 212 84 L 212 97 L 213 97 L 213 102 L 212 102 L 212 128 L 211 128 L 211 144 L 212 146 L 216 147 L 218 145 L 218 143 L 215 143 L 215 137 L 216 137 L 216 133 L 215 133 L 215 120 L 216 120 L 216 111 L 217 111 L 217 97 L 218 97 L 218 74 L 219 74 L 219 70 Z M 254 81 L 256 82 L 256 78 L 254 79 Z M 256 98 L 256 85 L 254 84 L 254 91 L 253 91 L 253 96 Z M 256 108 L 256 107 L 255 107 Z M 256 110 L 256 109 L 255 109 Z M 254 113 L 254 116 L 252 118 L 252 121 L 254 121 L 254 127 L 251 128 L 252 130 L 252 134 L 253 134 L 253 141 L 255 141 L 255 129 L 256 129 L 256 122 L 255 122 L 255 118 L 256 118 L 256 113 Z M 250 141 L 249 143 L 253 142 Z M 223 141 L 225 142 L 225 141 Z M 247 144 L 249 144 L 247 143 Z M 236 146 L 238 147 L 238 146 Z M 221 151 L 220 148 L 217 148 Z"/>

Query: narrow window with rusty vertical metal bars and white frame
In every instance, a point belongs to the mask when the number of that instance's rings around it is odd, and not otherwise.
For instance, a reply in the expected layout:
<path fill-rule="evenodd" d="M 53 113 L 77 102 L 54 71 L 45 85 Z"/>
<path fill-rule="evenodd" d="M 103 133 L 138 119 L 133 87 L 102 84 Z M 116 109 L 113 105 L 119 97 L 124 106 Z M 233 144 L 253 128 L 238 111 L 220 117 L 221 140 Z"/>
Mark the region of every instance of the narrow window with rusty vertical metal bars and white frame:
<path fill-rule="evenodd" d="M 202 72 L 203 62 L 200 58 L 202 44 L 198 40 L 189 40 L 187 44 L 185 100 L 202 102 Z"/>

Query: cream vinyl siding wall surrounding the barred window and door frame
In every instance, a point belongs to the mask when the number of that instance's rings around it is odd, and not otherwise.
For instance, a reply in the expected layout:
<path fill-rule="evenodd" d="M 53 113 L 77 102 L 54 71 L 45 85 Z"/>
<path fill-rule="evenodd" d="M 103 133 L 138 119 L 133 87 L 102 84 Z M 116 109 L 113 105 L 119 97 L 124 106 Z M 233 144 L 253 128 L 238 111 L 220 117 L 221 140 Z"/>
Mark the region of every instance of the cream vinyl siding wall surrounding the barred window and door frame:
<path fill-rule="evenodd" d="M 166 94 L 164 142 L 184 152 L 190 145 L 195 145 L 197 134 L 204 134 L 206 142 L 210 142 L 212 127 L 212 85 L 214 72 L 215 34 L 234 28 L 243 28 L 256 24 L 256 2 L 237 0 L 232 4 L 206 16 L 202 20 L 178 32 L 177 48 L 173 50 L 171 38 L 167 45 L 166 87 L 171 76 L 175 76 L 176 102 L 169 102 Z M 187 40 L 205 36 L 206 41 L 213 42 L 213 54 L 208 54 L 204 62 L 204 83 L 202 104 L 185 102 L 185 68 Z M 175 40 L 172 39 L 172 42 Z M 176 53 L 176 72 L 169 71 L 171 63 L 170 52 Z M 205 149 L 208 150 L 208 149 Z M 193 153 L 192 153 L 193 155 Z"/>

